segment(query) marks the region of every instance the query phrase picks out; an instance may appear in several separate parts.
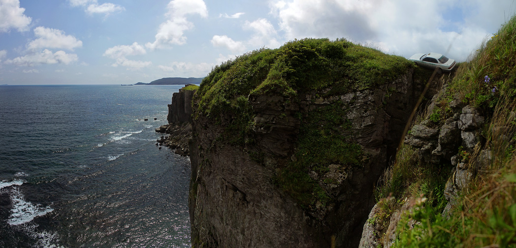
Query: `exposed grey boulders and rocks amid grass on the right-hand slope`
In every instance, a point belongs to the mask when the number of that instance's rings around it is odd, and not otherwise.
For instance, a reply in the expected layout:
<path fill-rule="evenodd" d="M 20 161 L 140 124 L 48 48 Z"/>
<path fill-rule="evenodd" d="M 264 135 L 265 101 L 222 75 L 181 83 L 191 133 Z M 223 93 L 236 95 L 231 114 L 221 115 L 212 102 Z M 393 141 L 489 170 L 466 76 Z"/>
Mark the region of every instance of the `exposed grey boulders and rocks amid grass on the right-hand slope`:
<path fill-rule="evenodd" d="M 437 108 L 439 95 L 446 91 L 446 86 L 434 97 L 428 107 L 432 114 L 419 124 L 415 124 L 405 137 L 405 143 L 416 148 L 420 164 L 438 164 L 440 167 L 451 165 L 451 175 L 444 189 L 445 199 L 448 201 L 445 212 L 454 204 L 456 197 L 465 189 L 471 179 L 479 172 L 486 171 L 492 161 L 489 149 L 482 147 L 481 128 L 485 122 L 479 111 L 470 106 L 463 106 L 459 101 L 448 104 L 449 112 L 441 114 Z M 437 117 L 436 117 L 437 116 Z M 440 120 L 448 116 L 445 120 Z M 475 161 L 470 161 L 471 155 L 478 153 Z M 400 214 L 409 210 L 404 204 L 401 209 L 394 210 L 389 220 L 378 221 L 381 216 L 383 202 L 375 205 L 369 213 L 368 221 L 364 226 L 360 247 L 390 247 L 395 239 L 395 232 Z M 412 207 L 412 205 L 410 205 Z M 389 226 L 388 229 L 385 227 Z"/>

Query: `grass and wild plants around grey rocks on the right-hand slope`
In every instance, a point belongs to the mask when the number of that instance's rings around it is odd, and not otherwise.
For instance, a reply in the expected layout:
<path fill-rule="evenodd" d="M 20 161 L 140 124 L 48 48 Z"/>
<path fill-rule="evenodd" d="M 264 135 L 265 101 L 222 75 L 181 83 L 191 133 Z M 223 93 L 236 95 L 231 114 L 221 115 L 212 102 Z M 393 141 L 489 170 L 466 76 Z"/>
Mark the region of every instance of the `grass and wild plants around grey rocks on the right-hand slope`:
<path fill-rule="evenodd" d="M 452 101 L 475 106 L 486 117 L 482 142 L 459 154 L 475 166 L 479 151 L 492 153 L 490 167 L 474 176 L 469 187 L 443 213 L 450 166 L 419 164 L 413 148 L 401 147 L 396 163 L 377 189 L 377 199 L 390 199 L 383 212 L 399 208 L 404 199 L 419 199 L 397 230 L 395 247 L 516 247 L 516 17 L 499 29 L 457 69 L 438 98 L 437 109 L 424 119 L 441 123 Z M 396 200 L 392 200 L 392 197 Z M 387 201 L 386 201 L 387 202 Z M 424 203 L 423 203 L 424 202 Z M 388 221 L 383 217 L 382 221 Z M 410 227 L 409 222 L 417 223 Z"/>

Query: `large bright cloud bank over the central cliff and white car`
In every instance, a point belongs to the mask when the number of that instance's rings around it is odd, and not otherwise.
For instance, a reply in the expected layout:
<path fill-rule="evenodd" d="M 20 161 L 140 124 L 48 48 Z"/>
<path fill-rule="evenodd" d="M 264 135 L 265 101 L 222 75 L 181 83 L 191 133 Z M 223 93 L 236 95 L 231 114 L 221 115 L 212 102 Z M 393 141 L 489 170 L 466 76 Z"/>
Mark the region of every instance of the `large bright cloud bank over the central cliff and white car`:
<path fill-rule="evenodd" d="M 270 13 L 285 41 L 347 38 L 409 57 L 438 52 L 466 59 L 476 46 L 514 14 L 510 0 L 273 0 Z M 248 24 L 248 23 L 246 23 Z M 265 34 L 267 25 L 248 25 Z M 491 31 L 493 32 L 493 31 Z M 448 47 L 451 49 L 448 51 Z"/>

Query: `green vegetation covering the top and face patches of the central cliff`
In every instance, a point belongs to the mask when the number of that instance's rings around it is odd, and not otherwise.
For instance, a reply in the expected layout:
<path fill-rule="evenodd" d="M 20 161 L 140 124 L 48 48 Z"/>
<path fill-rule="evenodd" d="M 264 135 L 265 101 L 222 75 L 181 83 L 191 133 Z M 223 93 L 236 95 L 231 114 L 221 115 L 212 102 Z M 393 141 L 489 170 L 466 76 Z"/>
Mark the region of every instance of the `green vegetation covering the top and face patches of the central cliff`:
<path fill-rule="evenodd" d="M 202 81 L 194 118 L 209 117 L 223 126 L 222 142 L 252 146 L 254 113 L 250 95 L 280 95 L 287 102 L 299 103 L 305 94 L 331 96 L 374 88 L 413 67 L 405 58 L 345 39 L 295 40 L 278 49 L 258 49 L 217 65 Z M 328 88 L 331 90 L 324 91 Z M 331 163 L 360 164 L 360 146 L 342 135 L 349 125 L 342 111 L 342 106 L 332 104 L 294 117 L 301 121 L 296 161 L 281 165 L 275 181 L 304 207 L 330 200 L 308 175 L 309 170 L 324 172 Z"/>

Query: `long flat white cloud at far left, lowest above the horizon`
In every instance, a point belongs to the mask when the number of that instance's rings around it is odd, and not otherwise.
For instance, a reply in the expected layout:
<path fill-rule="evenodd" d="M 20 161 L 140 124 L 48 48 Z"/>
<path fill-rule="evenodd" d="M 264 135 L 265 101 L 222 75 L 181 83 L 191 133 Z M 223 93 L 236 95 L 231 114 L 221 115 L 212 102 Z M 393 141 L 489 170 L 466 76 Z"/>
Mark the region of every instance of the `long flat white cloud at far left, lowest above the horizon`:
<path fill-rule="evenodd" d="M 70 64 L 74 61 L 77 61 L 76 54 L 67 54 L 64 51 L 57 51 L 52 53 L 52 51 L 44 49 L 41 53 L 33 53 L 22 57 L 16 57 L 14 59 L 8 59 L 5 61 L 5 63 L 19 66 L 34 66 L 39 64 L 56 63 Z"/>

